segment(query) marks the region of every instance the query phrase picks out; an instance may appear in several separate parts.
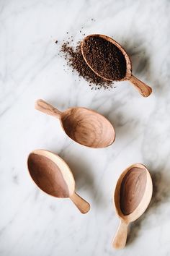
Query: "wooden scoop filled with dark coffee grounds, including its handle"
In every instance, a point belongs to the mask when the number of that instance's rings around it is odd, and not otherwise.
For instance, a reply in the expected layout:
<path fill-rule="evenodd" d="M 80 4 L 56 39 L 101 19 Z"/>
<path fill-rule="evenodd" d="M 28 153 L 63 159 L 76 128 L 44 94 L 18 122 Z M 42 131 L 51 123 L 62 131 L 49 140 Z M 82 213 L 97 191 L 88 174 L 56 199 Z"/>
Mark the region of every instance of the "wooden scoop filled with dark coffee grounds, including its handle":
<path fill-rule="evenodd" d="M 86 64 L 105 80 L 130 81 L 144 97 L 152 89 L 132 74 L 130 57 L 126 51 L 107 35 L 88 35 L 81 42 L 81 52 Z"/>

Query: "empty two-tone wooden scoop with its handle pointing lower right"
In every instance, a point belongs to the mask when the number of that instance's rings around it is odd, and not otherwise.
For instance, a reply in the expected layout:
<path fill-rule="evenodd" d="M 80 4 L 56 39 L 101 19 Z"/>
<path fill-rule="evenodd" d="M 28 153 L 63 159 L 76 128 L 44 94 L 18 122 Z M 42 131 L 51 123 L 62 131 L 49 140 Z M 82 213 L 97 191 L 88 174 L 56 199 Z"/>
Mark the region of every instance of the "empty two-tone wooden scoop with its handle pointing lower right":
<path fill-rule="evenodd" d="M 89 203 L 74 192 L 71 169 L 58 155 L 47 150 L 34 150 L 27 159 L 27 166 L 34 182 L 48 195 L 70 197 L 81 213 L 89 212 Z"/>

